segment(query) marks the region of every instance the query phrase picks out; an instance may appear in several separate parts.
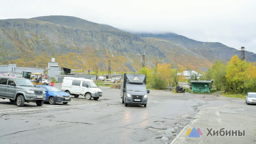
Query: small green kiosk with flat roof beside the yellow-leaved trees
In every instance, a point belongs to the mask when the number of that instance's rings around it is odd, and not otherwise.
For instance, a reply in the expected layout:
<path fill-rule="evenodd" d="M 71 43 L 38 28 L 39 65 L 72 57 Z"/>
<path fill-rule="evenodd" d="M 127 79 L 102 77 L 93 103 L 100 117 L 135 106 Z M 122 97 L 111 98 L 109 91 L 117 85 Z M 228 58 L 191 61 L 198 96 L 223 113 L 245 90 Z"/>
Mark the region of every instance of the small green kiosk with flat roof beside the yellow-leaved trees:
<path fill-rule="evenodd" d="M 192 84 L 191 93 L 198 92 L 198 93 L 210 93 L 210 89 L 212 88 L 212 83 L 214 80 L 211 81 L 190 81 Z"/>

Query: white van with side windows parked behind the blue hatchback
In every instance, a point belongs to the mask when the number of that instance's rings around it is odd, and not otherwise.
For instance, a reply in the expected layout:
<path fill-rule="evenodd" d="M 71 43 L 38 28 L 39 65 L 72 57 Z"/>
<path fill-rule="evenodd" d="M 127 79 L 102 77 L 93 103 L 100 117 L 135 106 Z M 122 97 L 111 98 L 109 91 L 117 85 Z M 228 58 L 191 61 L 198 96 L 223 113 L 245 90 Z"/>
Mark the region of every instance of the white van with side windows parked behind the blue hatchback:
<path fill-rule="evenodd" d="M 93 97 L 93 99 L 97 100 L 102 96 L 102 91 L 92 80 L 76 77 L 64 77 L 61 91 L 73 95 L 74 97 L 82 95 L 85 96 L 86 99 Z"/>

